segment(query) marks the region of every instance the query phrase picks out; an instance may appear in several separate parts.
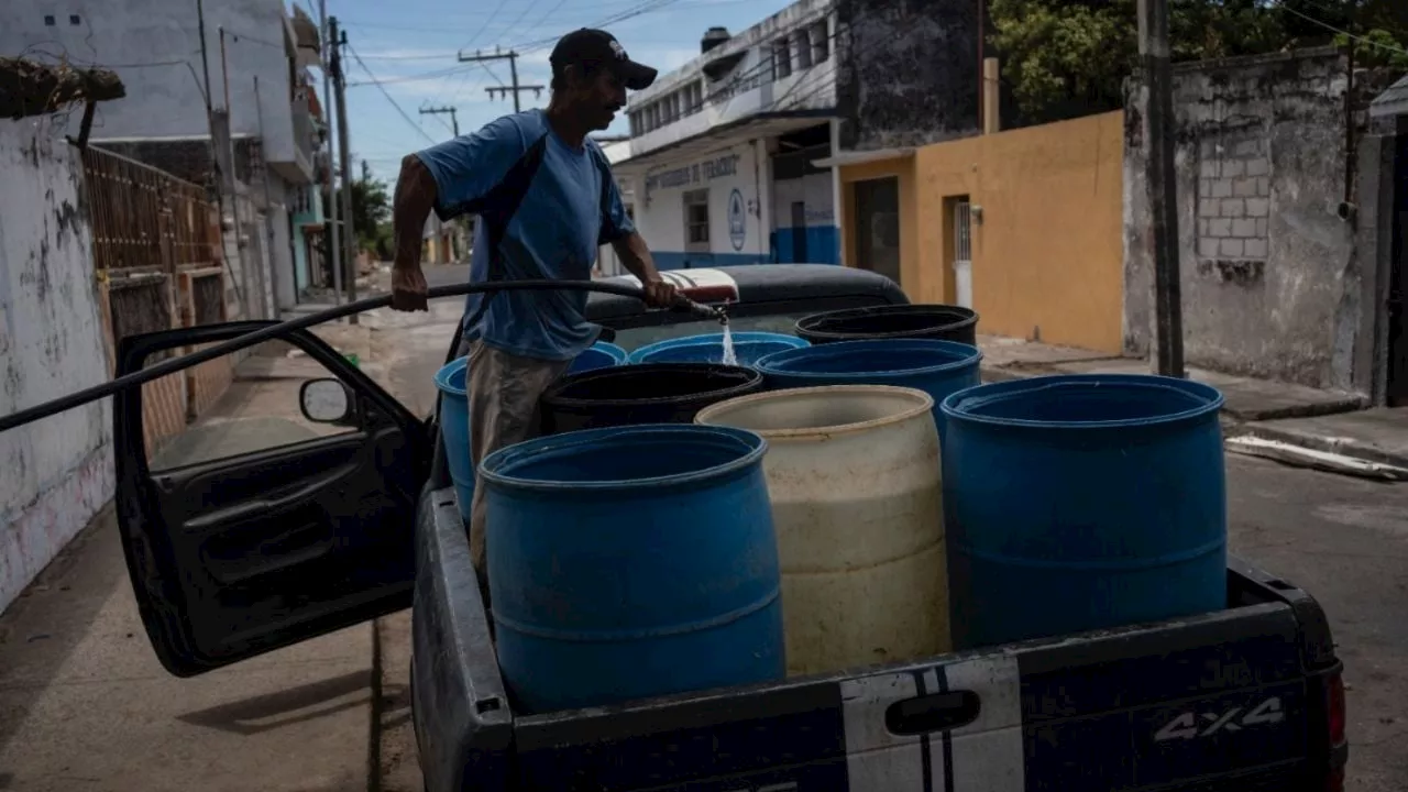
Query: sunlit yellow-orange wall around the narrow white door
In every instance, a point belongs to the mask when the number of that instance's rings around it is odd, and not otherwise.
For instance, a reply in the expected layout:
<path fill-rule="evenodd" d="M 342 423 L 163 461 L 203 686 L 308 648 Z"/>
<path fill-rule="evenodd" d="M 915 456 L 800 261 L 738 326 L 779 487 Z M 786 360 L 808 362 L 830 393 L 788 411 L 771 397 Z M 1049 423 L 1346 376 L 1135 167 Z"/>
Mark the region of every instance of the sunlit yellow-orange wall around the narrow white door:
<path fill-rule="evenodd" d="M 915 152 L 919 293 L 955 302 L 953 199 L 972 223 L 983 333 L 1118 354 L 1124 114 L 1026 127 Z"/>

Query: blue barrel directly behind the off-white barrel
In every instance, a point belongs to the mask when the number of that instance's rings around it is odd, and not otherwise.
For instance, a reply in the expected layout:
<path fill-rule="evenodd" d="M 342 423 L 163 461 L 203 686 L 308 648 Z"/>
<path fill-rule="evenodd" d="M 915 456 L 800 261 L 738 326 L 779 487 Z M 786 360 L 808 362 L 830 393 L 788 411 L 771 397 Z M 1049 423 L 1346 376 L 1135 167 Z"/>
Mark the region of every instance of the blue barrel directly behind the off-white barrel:
<path fill-rule="evenodd" d="M 950 393 L 979 383 L 983 352 L 970 344 L 926 338 L 841 341 L 773 352 L 755 366 L 767 388 L 821 385 L 893 385 L 914 388 L 934 397 L 934 423 L 945 434 L 939 404 Z"/>

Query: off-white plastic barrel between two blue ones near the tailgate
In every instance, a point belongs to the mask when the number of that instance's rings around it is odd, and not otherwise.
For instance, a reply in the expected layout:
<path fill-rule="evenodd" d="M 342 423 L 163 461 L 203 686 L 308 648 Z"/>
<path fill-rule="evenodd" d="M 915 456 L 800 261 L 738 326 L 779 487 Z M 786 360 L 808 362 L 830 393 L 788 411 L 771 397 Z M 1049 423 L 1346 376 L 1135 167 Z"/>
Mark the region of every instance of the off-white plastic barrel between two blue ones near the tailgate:
<path fill-rule="evenodd" d="M 767 440 L 790 675 L 949 650 L 932 409 L 922 390 L 842 385 L 742 396 L 694 419 Z"/>

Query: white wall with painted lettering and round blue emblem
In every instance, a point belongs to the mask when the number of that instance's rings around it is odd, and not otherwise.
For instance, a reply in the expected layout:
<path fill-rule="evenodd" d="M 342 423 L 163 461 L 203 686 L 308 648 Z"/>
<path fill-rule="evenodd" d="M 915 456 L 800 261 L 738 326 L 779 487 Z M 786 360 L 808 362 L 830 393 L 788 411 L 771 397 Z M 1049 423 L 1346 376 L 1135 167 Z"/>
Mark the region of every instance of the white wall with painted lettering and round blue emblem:
<path fill-rule="evenodd" d="M 648 172 L 617 169 L 635 196 L 635 225 L 660 269 L 760 264 L 772 259 L 767 156 L 762 141 L 718 149 Z M 708 190 L 710 249 L 687 252 L 684 193 Z"/>

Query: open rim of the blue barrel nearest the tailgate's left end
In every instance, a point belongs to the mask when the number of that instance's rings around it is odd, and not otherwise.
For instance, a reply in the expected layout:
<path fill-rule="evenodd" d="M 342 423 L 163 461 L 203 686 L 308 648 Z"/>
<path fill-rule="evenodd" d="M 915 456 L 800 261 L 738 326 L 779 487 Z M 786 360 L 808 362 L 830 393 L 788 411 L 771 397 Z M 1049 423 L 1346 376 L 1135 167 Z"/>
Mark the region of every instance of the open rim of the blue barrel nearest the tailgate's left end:
<path fill-rule="evenodd" d="M 736 457 L 718 465 L 683 474 L 638 479 L 552 481 L 513 474 L 513 471 L 522 469 L 527 465 L 555 457 L 570 457 L 589 447 L 600 450 L 605 444 L 620 445 L 639 440 L 656 443 L 674 441 L 680 444 L 708 443 L 721 448 L 727 447 L 729 451 L 736 452 Z M 759 464 L 766 452 L 767 441 L 759 433 L 745 428 L 693 424 L 617 426 L 551 434 L 500 448 L 484 457 L 484 461 L 479 466 L 479 475 L 487 485 L 538 493 L 638 490 L 643 486 L 681 488 L 746 471 L 749 466 Z"/>

